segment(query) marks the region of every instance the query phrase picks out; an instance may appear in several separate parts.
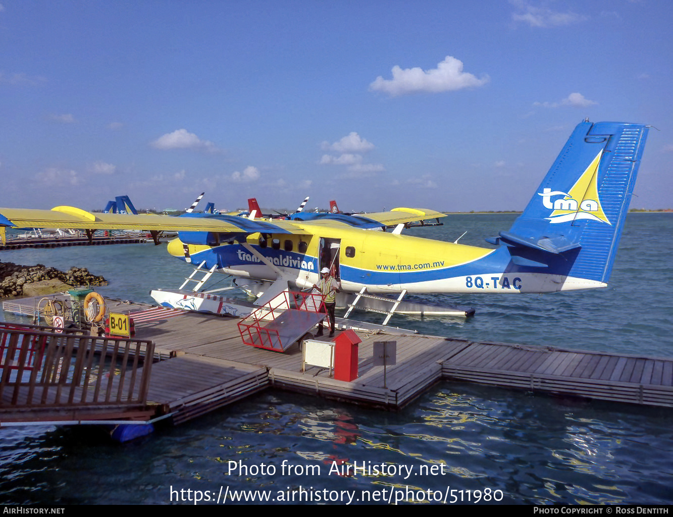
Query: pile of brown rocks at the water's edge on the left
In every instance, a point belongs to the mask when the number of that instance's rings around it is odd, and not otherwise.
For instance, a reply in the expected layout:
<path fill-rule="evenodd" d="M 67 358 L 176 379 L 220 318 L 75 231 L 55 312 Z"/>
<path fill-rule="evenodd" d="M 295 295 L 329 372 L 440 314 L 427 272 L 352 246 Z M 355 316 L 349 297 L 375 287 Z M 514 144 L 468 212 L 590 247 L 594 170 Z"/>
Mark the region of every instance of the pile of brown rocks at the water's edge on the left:
<path fill-rule="evenodd" d="M 108 285 L 103 277 L 89 273 L 85 267 L 59 271 L 42 264 L 22 266 L 0 262 L 0 298 L 43 296 L 85 285 Z"/>

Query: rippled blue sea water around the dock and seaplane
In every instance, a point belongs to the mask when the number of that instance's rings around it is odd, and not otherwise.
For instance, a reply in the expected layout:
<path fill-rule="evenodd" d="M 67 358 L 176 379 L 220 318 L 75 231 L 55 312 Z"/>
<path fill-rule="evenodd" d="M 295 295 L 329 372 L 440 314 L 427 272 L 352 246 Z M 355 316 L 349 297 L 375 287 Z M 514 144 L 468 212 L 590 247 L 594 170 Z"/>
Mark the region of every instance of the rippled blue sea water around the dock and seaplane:
<path fill-rule="evenodd" d="M 460 242 L 482 246 L 483 238 L 509 228 L 512 220 L 454 215 L 444 227 L 413 231 L 453 241 L 468 230 Z M 177 287 L 188 272 L 166 254 L 165 244 L 158 248 L 17 250 L 0 252 L 0 260 L 87 267 L 110 281 L 100 289 L 105 296 L 151 302 L 151 288 Z M 608 289 L 447 295 L 440 299 L 474 306 L 476 316 L 400 317 L 394 323 L 432 335 L 671 357 L 672 254 L 673 215 L 632 214 Z M 394 492 L 393 501 L 400 494 L 418 497 L 421 490 L 425 499 L 428 490 L 441 499 L 456 490 L 456 498 L 474 501 L 476 490 L 515 504 L 672 504 L 672 429 L 670 409 L 449 382 L 400 413 L 264 392 L 122 445 L 88 427 L 0 429 L 0 503 L 168 504 L 171 487 L 184 489 L 185 497 L 188 489 L 214 492 L 216 499 L 222 486 L 223 492 L 256 491 L 256 497 L 289 492 L 295 502 L 300 493 L 316 502 L 318 496 L 341 495 L 337 491 L 355 491 L 358 499 L 361 491 L 375 496 L 385 490 L 388 497 L 394 489 L 401 492 Z M 248 473 L 229 471 L 228 462 L 239 460 Z M 330 474 L 334 460 L 413 470 L 406 479 L 406 473 L 340 476 Z M 293 467 L 291 474 L 281 473 L 283 461 Z M 275 467 L 275 475 L 254 472 L 262 463 Z M 421 467 L 433 465 L 436 475 L 420 475 Z"/>

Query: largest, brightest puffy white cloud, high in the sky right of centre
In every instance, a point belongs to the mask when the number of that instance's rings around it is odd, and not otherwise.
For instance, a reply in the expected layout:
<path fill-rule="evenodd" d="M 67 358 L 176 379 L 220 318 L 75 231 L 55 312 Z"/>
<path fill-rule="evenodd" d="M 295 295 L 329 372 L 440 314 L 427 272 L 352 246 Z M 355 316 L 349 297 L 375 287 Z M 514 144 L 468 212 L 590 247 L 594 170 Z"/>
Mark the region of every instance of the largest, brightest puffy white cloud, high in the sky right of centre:
<path fill-rule="evenodd" d="M 463 88 L 481 86 L 488 81 L 488 75 L 483 75 L 481 79 L 477 79 L 471 73 L 463 71 L 462 61 L 447 56 L 444 61 L 437 65 L 437 68 L 427 71 L 420 67 L 402 70 L 395 65 L 392 67 L 392 79 L 376 77 L 376 81 L 369 85 L 369 90 L 385 92 L 392 97 L 396 97 L 418 92 L 453 92 Z"/>

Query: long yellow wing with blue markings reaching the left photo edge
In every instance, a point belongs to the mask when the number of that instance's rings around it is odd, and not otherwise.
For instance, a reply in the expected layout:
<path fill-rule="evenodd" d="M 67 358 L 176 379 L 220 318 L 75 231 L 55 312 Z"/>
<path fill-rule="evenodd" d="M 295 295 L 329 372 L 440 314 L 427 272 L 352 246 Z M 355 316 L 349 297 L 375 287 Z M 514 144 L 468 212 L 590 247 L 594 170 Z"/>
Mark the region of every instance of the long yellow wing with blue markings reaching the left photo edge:
<path fill-rule="evenodd" d="M 254 234 L 306 234 L 302 226 L 290 221 L 257 221 L 233 215 L 190 214 L 190 217 L 168 215 L 131 215 L 92 213 L 75 207 L 51 210 L 0 208 L 0 226 L 13 228 L 75 228 L 79 230 L 156 230 L 166 232 L 218 232 Z"/>

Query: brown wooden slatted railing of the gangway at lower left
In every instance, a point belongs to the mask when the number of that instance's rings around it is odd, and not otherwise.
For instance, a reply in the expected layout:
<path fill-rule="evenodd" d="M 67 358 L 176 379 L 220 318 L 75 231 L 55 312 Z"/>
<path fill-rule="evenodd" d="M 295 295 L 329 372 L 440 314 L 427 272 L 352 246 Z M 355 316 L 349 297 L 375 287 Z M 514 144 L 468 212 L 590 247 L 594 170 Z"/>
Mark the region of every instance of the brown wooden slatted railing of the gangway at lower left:
<path fill-rule="evenodd" d="M 153 353 L 152 341 L 0 323 L 0 409 L 146 405 Z"/>

